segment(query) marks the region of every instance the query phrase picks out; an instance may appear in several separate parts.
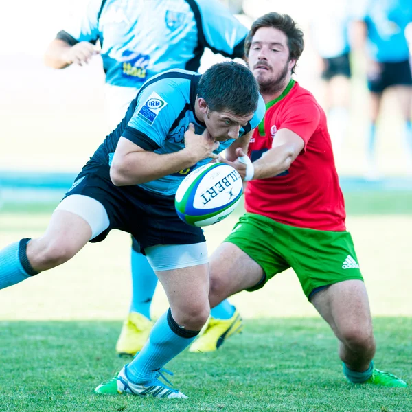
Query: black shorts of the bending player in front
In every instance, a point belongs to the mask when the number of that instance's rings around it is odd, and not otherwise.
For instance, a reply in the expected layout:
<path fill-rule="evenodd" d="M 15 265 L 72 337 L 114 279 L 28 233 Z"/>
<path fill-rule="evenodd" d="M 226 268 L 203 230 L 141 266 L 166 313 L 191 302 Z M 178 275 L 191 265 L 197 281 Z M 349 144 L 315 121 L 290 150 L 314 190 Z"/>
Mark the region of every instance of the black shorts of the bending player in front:
<path fill-rule="evenodd" d="M 174 196 L 162 196 L 139 186 L 113 185 L 106 165 L 90 161 L 76 177 L 84 177 L 65 197 L 83 194 L 102 203 L 109 227 L 91 240 L 101 242 L 112 229 L 130 233 L 141 249 L 157 244 L 194 244 L 205 242 L 200 227 L 187 225 L 176 214 Z M 134 249 L 135 249 L 134 248 Z M 137 249 L 138 250 L 138 249 Z"/>

